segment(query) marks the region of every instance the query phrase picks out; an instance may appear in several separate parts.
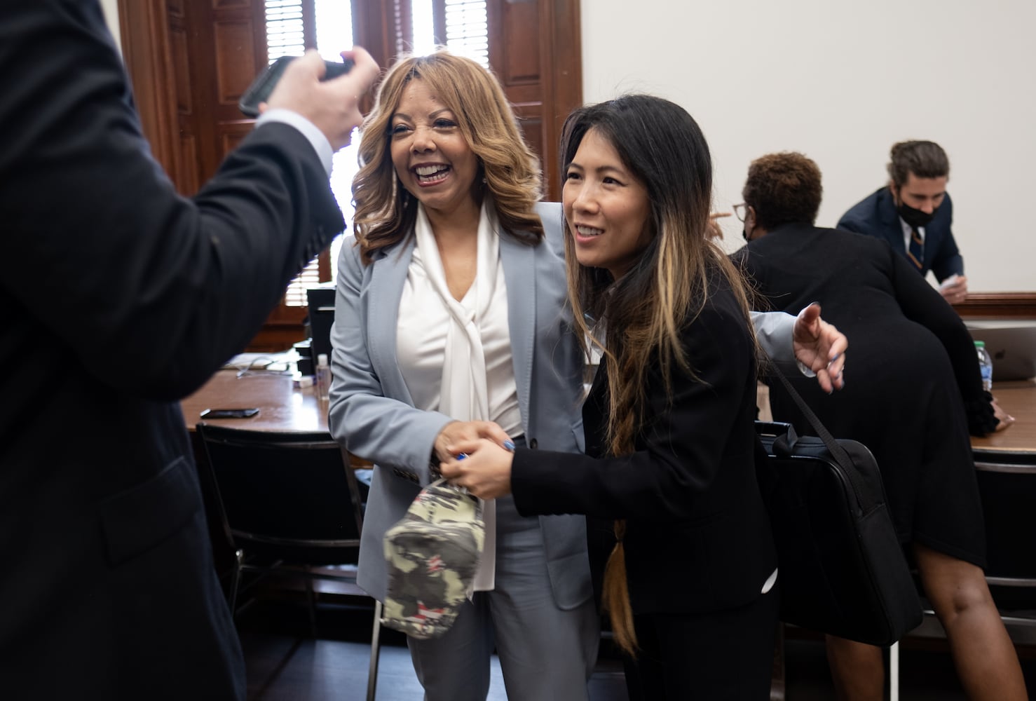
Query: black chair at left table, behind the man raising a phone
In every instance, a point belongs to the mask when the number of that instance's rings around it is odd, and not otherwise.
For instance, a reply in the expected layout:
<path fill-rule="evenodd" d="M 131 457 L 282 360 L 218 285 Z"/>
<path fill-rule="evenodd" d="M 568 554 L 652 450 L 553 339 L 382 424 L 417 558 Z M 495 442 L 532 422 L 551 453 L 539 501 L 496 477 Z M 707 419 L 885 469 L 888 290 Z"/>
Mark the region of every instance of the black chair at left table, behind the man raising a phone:
<path fill-rule="evenodd" d="M 355 585 L 363 504 L 348 456 L 325 433 L 282 433 L 198 423 L 217 510 L 236 549 L 228 586 L 236 613 L 241 576 L 301 577 L 316 633 L 314 579 Z M 201 461 L 199 461 L 201 462 Z M 323 566 L 321 566 L 323 565 Z M 358 587 L 355 595 L 366 596 Z M 352 592 L 349 592 L 350 594 Z M 375 602 L 367 698 L 374 699 L 381 604 Z"/>

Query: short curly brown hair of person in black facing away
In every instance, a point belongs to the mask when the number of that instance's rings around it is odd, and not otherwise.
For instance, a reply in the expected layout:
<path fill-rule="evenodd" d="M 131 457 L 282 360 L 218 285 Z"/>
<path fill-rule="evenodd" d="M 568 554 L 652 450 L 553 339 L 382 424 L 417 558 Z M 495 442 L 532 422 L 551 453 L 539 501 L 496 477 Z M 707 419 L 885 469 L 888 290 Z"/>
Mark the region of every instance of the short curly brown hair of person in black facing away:
<path fill-rule="evenodd" d="M 741 195 L 764 229 L 796 222 L 812 224 L 824 195 L 821 169 L 802 153 L 769 153 L 748 167 Z"/>

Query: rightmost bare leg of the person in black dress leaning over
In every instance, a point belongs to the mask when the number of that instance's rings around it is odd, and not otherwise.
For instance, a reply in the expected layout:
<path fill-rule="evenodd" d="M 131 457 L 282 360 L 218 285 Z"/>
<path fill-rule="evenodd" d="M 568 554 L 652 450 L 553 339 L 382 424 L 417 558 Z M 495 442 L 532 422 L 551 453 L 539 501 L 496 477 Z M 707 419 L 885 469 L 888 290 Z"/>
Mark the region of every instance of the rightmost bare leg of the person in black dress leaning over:
<path fill-rule="evenodd" d="M 982 571 L 914 544 L 921 583 L 950 643 L 953 665 L 968 698 L 1026 701 L 1018 655 L 1004 629 Z"/>

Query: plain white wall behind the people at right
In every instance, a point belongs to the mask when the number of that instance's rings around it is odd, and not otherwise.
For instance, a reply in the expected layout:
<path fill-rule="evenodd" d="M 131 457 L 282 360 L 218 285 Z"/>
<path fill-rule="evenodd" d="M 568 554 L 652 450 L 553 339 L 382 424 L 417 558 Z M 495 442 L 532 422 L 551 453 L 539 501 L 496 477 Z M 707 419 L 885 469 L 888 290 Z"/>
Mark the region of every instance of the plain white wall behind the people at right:
<path fill-rule="evenodd" d="M 972 291 L 1036 290 L 1036 2 L 582 0 L 586 101 L 651 92 L 701 125 L 715 206 L 748 164 L 802 151 L 824 173 L 817 225 L 887 181 L 889 147 L 950 156 L 954 236 Z M 740 223 L 724 220 L 726 244 Z"/>

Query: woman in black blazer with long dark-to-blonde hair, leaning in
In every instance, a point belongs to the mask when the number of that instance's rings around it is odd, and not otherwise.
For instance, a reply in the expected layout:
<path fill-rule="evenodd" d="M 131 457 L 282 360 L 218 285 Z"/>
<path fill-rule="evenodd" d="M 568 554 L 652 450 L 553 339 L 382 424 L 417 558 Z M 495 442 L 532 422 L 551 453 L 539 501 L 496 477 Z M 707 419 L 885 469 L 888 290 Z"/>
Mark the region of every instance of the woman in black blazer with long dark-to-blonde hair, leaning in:
<path fill-rule="evenodd" d="M 707 238 L 709 147 L 679 106 L 629 95 L 573 113 L 562 152 L 570 297 L 603 353 L 586 455 L 466 442 L 442 473 L 513 493 L 523 515 L 592 517 L 599 574 L 596 520 L 607 537 L 614 522 L 603 603 L 632 699 L 684 698 L 689 682 L 707 699 L 769 698 L 777 562 L 753 462 L 756 342 L 739 273 Z"/>

